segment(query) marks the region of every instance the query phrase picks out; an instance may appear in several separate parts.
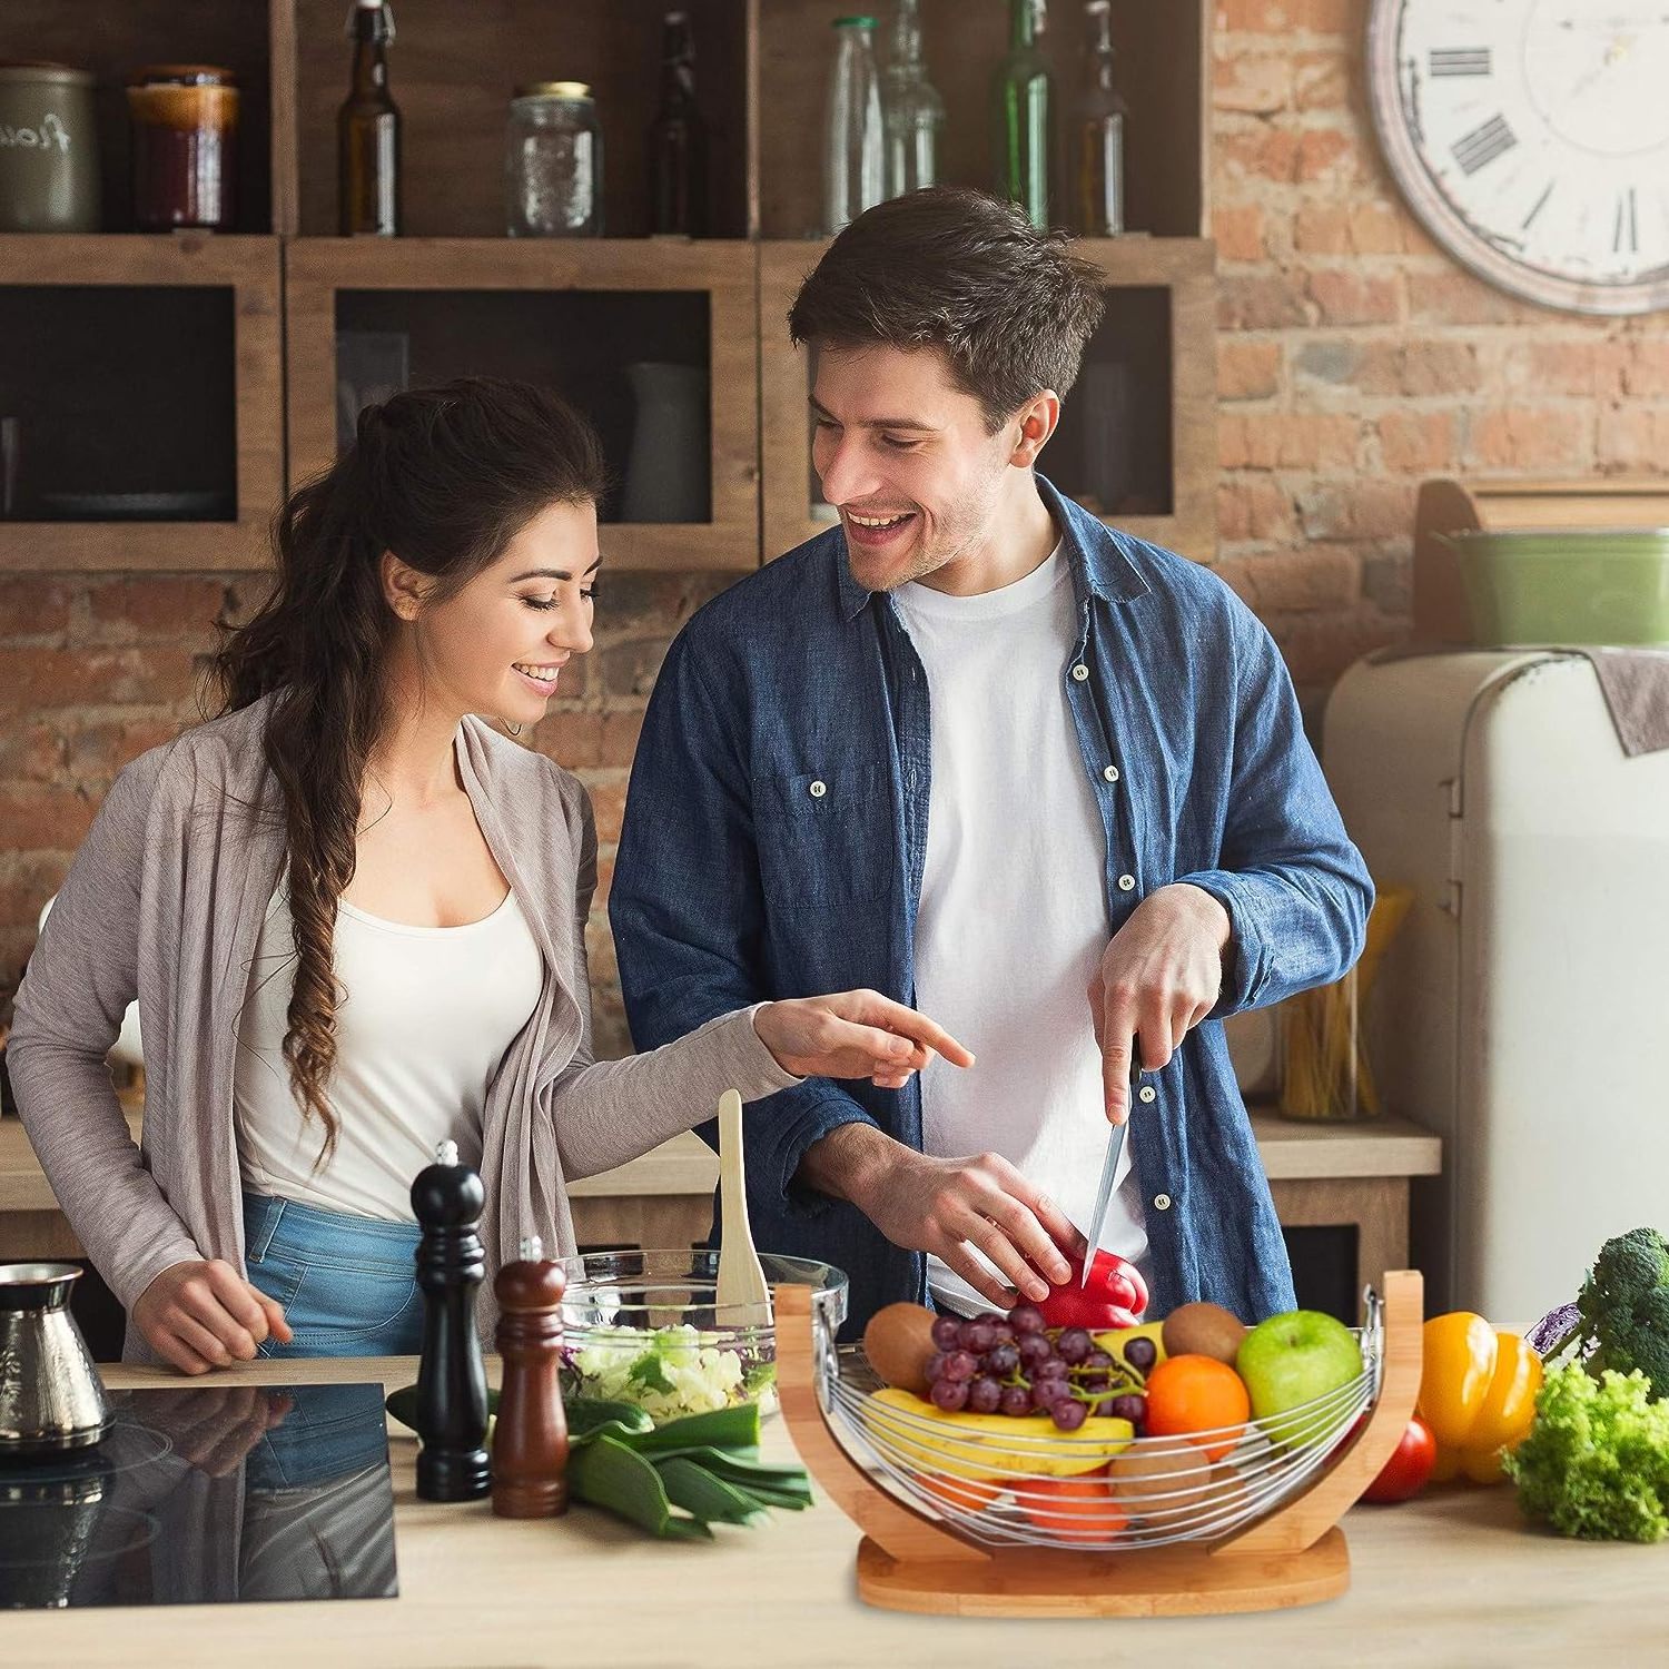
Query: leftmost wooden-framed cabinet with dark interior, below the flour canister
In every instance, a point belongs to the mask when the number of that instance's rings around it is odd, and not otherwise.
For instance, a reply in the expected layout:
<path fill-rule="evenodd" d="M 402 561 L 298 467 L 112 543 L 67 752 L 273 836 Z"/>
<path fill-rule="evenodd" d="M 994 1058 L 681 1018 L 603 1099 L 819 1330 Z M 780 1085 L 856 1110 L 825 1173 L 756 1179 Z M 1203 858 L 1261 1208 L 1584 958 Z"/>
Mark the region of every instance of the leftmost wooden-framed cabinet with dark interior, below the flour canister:
<path fill-rule="evenodd" d="M 32 366 L 33 344 L 22 335 L 8 352 L 8 379 L 17 384 L 10 392 L 20 402 L 25 427 L 25 479 L 43 467 L 43 454 L 48 466 L 57 454 L 60 472 L 70 454 L 88 466 L 110 467 L 118 451 L 169 441 L 189 447 L 192 426 L 205 431 L 230 419 L 229 442 L 224 432 L 204 441 L 227 444 L 224 487 L 230 514 L 224 521 L 180 522 L 7 521 L 0 522 L 0 569 L 264 567 L 267 519 L 284 484 L 279 240 L 210 234 L 0 237 L 0 305 L 8 294 L 15 300 L 18 292 L 37 289 L 57 292 L 53 300 L 73 310 L 85 329 L 75 332 L 80 340 L 72 354 L 78 359 Z M 108 302 L 98 290 L 112 292 Z M 207 309 L 217 315 L 212 325 L 197 309 L 157 305 L 167 300 L 157 292 L 177 297 L 182 290 L 222 290 L 227 305 Z M 125 312 L 115 310 L 124 307 Z M 162 327 L 180 330 L 182 339 L 154 339 L 147 319 L 154 324 L 159 315 L 165 320 Z M 35 317 L 45 327 L 38 312 Z M 212 339 L 192 340 L 195 329 L 210 330 Z M 225 409 L 204 409 L 200 386 L 220 372 Z M 102 404 L 112 389 L 127 396 L 120 411 Z M 88 421 L 93 401 L 100 402 L 98 431 L 72 432 L 75 424 Z M 177 432 L 174 424 L 184 429 Z M 32 427 L 47 439 L 32 436 Z M 97 479 L 57 484 L 88 491 L 108 486 Z"/>

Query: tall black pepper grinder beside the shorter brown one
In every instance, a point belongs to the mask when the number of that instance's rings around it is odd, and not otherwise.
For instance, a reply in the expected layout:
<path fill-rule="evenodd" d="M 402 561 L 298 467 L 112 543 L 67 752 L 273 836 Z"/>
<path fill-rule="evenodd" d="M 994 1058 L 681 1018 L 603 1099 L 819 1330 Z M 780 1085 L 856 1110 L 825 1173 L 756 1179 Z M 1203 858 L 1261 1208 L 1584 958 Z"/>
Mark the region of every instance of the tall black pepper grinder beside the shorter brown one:
<path fill-rule="evenodd" d="M 442 1142 L 417 1172 L 412 1210 L 422 1225 L 417 1285 L 424 1293 L 417 1369 L 417 1494 L 422 1500 L 479 1500 L 492 1489 L 487 1459 L 487 1374 L 476 1335 L 476 1288 L 487 1255 L 476 1225 L 487 1203 L 481 1177 Z"/>

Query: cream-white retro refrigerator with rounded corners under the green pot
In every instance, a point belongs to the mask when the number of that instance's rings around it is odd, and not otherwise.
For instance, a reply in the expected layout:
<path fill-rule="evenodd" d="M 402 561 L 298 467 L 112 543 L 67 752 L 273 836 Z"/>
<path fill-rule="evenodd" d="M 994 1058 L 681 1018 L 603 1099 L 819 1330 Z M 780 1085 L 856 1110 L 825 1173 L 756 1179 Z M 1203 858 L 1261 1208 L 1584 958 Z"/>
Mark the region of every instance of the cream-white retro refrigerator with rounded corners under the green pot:
<path fill-rule="evenodd" d="M 1529 1325 L 1606 1238 L 1669 1232 L 1669 751 L 1624 754 L 1584 656 L 1467 651 L 1354 666 L 1324 764 L 1415 893 L 1365 1026 L 1385 1110 L 1444 1138 L 1427 1314 Z"/>

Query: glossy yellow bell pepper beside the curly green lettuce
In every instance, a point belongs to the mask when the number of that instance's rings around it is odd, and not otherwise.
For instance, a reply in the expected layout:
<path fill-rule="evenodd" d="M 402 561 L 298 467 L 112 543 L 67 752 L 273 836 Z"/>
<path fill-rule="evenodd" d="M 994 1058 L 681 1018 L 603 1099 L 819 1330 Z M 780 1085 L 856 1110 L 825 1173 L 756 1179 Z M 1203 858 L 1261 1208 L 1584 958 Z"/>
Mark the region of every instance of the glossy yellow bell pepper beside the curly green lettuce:
<path fill-rule="evenodd" d="M 1434 1482 L 1500 1479 L 1500 1457 L 1517 1449 L 1535 1419 L 1542 1359 L 1482 1315 L 1434 1315 L 1422 1337 L 1417 1412 L 1437 1439 Z"/>

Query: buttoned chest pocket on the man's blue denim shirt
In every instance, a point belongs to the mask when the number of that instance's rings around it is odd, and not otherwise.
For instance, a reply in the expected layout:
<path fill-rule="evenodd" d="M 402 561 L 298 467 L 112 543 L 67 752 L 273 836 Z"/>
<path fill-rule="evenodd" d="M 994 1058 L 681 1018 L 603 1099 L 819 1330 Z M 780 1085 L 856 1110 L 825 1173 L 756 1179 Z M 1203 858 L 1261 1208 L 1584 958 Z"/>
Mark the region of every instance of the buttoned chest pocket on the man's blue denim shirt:
<path fill-rule="evenodd" d="M 756 829 L 768 901 L 818 908 L 873 898 L 891 878 L 893 821 L 885 764 L 831 763 L 773 774 Z"/>

